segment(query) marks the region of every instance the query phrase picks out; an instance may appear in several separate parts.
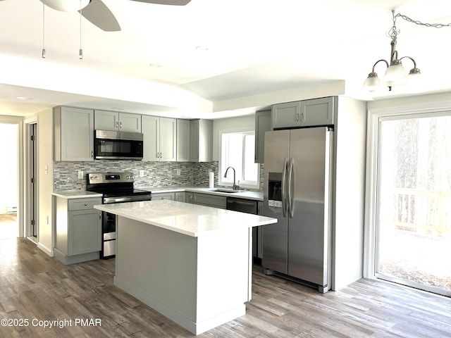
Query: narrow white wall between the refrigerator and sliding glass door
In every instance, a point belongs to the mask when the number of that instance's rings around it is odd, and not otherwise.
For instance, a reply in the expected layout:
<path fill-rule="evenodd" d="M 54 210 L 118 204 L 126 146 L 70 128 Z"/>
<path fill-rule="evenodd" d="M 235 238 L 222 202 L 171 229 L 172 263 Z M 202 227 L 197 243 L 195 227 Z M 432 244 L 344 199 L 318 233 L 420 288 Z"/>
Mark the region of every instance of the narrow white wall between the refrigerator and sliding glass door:
<path fill-rule="evenodd" d="M 335 119 L 334 290 L 363 275 L 366 102 L 338 98 Z"/>

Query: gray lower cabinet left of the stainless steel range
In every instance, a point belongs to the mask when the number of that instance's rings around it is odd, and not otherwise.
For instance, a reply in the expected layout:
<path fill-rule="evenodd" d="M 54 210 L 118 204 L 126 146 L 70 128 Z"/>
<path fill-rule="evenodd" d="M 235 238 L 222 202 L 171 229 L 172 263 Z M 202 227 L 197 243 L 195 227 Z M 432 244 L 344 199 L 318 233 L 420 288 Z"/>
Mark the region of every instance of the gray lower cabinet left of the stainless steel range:
<path fill-rule="evenodd" d="M 56 242 L 54 255 L 63 264 L 92 261 L 101 250 L 101 199 L 56 197 Z"/>

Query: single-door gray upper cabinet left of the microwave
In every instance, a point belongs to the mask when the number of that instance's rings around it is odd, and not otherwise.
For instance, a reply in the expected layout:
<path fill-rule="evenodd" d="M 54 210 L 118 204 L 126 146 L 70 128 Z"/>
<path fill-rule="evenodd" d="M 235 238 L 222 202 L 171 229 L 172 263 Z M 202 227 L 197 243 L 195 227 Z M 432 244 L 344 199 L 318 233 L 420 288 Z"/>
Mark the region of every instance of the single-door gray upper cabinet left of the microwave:
<path fill-rule="evenodd" d="M 54 108 L 55 161 L 94 161 L 94 111 Z"/>

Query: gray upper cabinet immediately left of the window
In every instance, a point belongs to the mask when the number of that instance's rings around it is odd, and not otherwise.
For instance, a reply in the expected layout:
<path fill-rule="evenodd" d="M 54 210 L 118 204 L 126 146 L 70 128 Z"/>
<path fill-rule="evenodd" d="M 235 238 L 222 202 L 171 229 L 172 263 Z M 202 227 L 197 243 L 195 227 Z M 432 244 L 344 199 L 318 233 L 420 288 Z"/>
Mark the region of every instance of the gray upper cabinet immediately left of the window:
<path fill-rule="evenodd" d="M 190 127 L 191 161 L 213 161 L 213 121 L 191 120 Z"/>

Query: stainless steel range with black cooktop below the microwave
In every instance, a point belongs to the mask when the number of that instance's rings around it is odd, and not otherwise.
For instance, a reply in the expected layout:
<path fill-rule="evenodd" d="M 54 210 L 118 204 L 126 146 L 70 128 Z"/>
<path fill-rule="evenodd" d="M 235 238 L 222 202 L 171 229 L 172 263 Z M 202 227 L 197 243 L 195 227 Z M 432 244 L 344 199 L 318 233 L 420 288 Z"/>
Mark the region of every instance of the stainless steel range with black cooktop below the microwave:
<path fill-rule="evenodd" d="M 133 173 L 92 173 L 87 175 L 87 190 L 103 194 L 102 204 L 150 201 L 152 192 L 135 189 Z M 116 215 L 102 212 L 100 258 L 116 256 Z"/>

